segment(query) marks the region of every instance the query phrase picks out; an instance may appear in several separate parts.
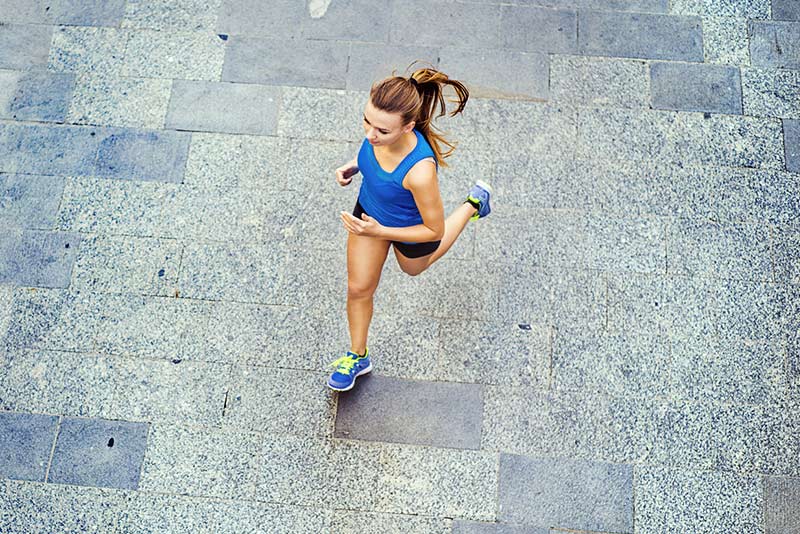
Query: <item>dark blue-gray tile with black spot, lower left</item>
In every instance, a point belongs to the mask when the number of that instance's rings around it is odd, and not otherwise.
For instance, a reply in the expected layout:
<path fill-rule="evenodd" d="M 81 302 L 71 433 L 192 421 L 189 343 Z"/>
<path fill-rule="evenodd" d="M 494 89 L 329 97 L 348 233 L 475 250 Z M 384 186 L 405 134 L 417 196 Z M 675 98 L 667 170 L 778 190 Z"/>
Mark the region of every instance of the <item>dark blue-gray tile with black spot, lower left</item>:
<path fill-rule="evenodd" d="M 136 489 L 148 427 L 147 423 L 65 418 L 48 481 Z"/>

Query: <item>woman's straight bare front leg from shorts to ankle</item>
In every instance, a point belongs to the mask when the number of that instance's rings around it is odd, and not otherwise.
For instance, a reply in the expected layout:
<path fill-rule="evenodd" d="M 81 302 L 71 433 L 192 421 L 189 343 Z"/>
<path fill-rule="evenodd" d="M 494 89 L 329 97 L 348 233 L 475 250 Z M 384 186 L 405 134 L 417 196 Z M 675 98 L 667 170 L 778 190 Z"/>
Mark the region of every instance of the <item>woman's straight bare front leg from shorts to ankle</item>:
<path fill-rule="evenodd" d="M 372 320 L 372 296 L 378 287 L 390 241 L 348 234 L 347 237 L 347 321 L 350 350 L 364 354 Z"/>

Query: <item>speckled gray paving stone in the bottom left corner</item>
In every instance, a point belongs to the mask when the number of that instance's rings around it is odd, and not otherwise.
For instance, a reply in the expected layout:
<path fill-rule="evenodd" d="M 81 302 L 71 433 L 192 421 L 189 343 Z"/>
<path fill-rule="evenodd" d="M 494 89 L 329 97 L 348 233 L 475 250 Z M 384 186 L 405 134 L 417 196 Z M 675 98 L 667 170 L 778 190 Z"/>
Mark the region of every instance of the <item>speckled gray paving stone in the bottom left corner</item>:
<path fill-rule="evenodd" d="M 0 493 L 0 521 L 2 511 L 11 510 L 9 527 L 0 526 L 23 534 L 108 532 L 116 526 L 123 500 L 116 489 L 9 480 L 8 493 Z"/>

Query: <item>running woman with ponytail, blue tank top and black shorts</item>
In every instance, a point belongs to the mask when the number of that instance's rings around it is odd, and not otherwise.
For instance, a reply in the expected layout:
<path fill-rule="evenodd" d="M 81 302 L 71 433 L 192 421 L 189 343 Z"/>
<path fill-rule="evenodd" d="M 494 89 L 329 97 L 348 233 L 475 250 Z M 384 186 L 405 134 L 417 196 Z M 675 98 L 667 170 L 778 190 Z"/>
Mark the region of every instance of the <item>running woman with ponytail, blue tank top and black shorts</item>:
<path fill-rule="evenodd" d="M 489 214 L 492 189 L 478 181 L 466 200 L 447 219 L 436 171 L 455 148 L 434 131 L 432 120 L 446 112 L 442 90 L 456 94 L 454 116 L 464 110 L 469 91 L 435 69 L 415 70 L 408 77 L 376 82 L 364 107 L 365 139 L 358 155 L 336 169 L 346 186 L 361 172 L 361 189 L 353 213 L 342 212 L 347 236 L 347 320 L 350 350 L 331 364 L 328 386 L 347 391 L 356 377 L 372 370 L 367 331 L 372 297 L 383 264 L 394 247 L 400 268 L 420 274 L 444 256 L 470 220 Z"/>

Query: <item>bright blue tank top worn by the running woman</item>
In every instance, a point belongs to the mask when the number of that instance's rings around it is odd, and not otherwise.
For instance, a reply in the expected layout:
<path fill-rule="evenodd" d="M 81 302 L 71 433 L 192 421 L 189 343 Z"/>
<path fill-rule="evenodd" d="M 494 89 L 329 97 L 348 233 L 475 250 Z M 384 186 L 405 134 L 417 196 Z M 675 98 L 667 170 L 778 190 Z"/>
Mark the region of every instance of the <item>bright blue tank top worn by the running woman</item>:
<path fill-rule="evenodd" d="M 386 172 L 378 164 L 375 150 L 366 139 L 358 151 L 358 169 L 361 171 L 358 201 L 370 217 L 384 226 L 422 224 L 422 215 L 411 191 L 403 187 L 403 178 L 414 164 L 425 158 L 436 161 L 436 156 L 425 136 L 417 130 L 414 130 L 414 134 L 417 136 L 417 145 L 392 172 Z M 438 162 L 436 167 L 438 169 Z"/>

